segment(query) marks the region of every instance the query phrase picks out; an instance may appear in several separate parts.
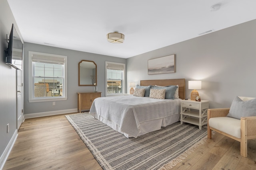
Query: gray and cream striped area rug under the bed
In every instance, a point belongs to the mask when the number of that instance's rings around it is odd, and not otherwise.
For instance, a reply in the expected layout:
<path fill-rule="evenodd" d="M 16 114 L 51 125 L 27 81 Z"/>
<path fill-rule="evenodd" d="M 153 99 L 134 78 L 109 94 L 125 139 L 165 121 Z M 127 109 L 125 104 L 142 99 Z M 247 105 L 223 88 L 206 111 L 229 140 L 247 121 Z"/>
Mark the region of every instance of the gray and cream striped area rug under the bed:
<path fill-rule="evenodd" d="M 207 137 L 207 127 L 180 122 L 138 138 L 126 138 L 88 113 L 66 115 L 104 170 L 167 170 Z"/>

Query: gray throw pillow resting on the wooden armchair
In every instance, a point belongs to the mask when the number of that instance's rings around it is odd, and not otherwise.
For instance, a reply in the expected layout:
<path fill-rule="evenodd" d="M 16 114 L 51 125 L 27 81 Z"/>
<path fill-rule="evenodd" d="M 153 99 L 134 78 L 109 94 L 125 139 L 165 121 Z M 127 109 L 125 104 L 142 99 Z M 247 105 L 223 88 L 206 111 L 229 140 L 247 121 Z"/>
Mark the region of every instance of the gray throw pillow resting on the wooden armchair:
<path fill-rule="evenodd" d="M 230 106 L 227 117 L 241 119 L 241 117 L 256 116 L 256 98 L 243 101 L 236 96 Z"/>

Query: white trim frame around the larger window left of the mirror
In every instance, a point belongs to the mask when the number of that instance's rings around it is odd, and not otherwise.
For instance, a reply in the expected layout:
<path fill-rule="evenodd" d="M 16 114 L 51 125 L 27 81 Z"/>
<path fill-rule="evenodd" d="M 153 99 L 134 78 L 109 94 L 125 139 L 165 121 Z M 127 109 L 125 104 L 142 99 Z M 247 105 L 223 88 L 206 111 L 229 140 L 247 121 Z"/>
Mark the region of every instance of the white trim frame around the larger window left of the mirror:
<path fill-rule="evenodd" d="M 33 67 L 32 67 L 32 55 L 45 55 L 50 57 L 62 57 L 65 59 L 64 63 L 64 72 L 65 72 L 65 80 L 64 80 L 64 97 L 61 98 L 41 98 L 41 99 L 34 99 L 33 98 Z M 47 54 L 47 53 L 38 53 L 34 51 L 28 51 L 28 102 L 51 102 L 51 101 L 60 101 L 60 100 L 67 100 L 68 99 L 68 63 L 67 63 L 67 56 L 64 55 L 54 55 L 54 54 Z"/>

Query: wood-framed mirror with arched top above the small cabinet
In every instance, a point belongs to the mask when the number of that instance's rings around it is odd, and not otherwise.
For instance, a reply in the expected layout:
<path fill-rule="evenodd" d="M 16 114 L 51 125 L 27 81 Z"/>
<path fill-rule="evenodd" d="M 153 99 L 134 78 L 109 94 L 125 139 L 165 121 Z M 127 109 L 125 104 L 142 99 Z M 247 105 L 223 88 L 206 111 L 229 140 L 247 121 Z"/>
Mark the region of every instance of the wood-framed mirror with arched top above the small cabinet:
<path fill-rule="evenodd" d="M 93 61 L 80 61 L 78 63 L 78 86 L 95 85 L 97 85 L 97 65 Z"/>

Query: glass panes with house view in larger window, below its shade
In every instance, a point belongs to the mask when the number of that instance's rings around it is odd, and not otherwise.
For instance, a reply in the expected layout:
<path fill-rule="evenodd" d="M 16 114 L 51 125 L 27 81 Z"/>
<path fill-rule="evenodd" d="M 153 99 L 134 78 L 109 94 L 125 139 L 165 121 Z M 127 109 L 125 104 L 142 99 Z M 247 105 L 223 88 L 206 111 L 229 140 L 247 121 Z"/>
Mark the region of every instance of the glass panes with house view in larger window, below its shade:
<path fill-rule="evenodd" d="M 33 62 L 34 97 L 62 96 L 64 65 Z"/>

